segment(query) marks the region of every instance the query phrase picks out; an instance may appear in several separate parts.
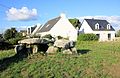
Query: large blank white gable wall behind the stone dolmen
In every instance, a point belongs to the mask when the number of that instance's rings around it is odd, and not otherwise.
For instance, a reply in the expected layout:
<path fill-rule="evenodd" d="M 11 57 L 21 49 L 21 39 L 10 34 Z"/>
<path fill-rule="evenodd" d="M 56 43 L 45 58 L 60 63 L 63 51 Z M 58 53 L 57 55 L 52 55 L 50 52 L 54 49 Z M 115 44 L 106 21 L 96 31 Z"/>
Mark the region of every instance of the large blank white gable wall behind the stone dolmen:
<path fill-rule="evenodd" d="M 52 36 L 62 36 L 69 40 L 77 40 L 77 30 L 66 17 L 62 17 L 49 31 Z"/>

